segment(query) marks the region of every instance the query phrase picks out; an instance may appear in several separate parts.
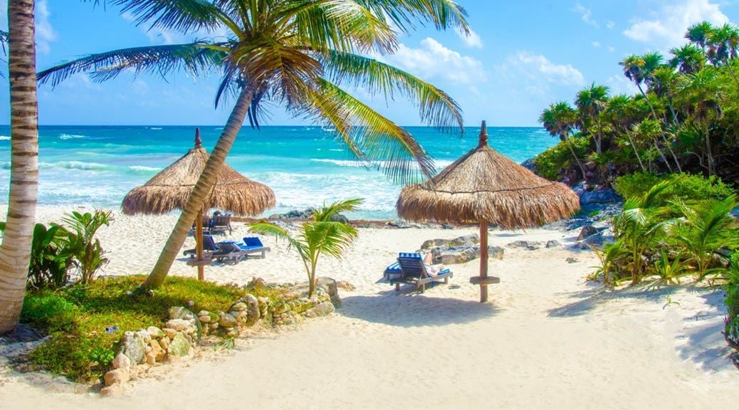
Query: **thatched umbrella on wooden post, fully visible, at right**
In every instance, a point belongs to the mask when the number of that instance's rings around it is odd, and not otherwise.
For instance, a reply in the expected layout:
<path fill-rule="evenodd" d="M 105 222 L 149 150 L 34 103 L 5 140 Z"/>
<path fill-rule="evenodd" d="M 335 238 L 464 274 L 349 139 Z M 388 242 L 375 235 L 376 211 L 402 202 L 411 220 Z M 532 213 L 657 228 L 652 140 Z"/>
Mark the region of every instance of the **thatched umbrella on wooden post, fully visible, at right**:
<path fill-rule="evenodd" d="M 579 197 L 567 185 L 537 177 L 488 146 L 483 121 L 480 143 L 436 177 L 401 191 L 396 208 L 404 219 L 480 223 L 480 301 L 488 300 L 488 223 L 502 228 L 528 228 L 570 216 Z"/>

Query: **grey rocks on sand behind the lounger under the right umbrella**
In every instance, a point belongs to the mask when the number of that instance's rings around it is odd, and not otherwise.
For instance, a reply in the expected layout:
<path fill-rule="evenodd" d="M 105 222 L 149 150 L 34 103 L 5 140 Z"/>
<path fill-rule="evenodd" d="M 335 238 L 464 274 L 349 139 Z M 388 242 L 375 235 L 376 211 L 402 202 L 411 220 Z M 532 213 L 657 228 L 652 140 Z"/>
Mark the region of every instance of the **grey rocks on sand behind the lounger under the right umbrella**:
<path fill-rule="evenodd" d="M 503 248 L 488 246 L 488 257 L 503 259 Z M 454 239 L 429 239 L 420 245 L 420 253 L 431 252 L 435 264 L 460 264 L 480 258 L 477 233 Z"/>

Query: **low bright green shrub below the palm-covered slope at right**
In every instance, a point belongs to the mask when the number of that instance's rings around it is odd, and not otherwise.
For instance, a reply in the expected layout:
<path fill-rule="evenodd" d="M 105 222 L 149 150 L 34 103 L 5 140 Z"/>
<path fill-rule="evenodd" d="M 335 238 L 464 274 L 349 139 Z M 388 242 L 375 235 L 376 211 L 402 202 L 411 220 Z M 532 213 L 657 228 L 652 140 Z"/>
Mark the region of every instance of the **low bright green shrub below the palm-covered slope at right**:
<path fill-rule="evenodd" d="M 718 177 L 704 178 L 695 174 L 656 175 L 647 172 L 622 175 L 616 178 L 614 188 L 625 199 L 641 197 L 654 185 L 670 181 L 667 188 L 657 197 L 658 205 L 665 205 L 670 199 L 695 201 L 701 199 L 723 199 L 734 194 L 734 190 Z"/>

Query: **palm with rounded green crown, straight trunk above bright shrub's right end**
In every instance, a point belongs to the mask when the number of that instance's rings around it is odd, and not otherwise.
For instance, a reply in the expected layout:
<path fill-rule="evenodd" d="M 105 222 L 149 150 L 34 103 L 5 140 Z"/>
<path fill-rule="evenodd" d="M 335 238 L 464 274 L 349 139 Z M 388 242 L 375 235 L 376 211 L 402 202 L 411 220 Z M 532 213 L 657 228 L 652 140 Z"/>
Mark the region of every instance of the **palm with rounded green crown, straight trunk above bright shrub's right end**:
<path fill-rule="evenodd" d="M 719 75 L 718 69 L 706 67 L 695 74 L 680 78 L 675 97 L 691 119 L 703 127 L 708 174 L 715 174 L 709 132 L 712 120 L 721 117 L 721 103 L 726 97 L 726 81 Z"/>

